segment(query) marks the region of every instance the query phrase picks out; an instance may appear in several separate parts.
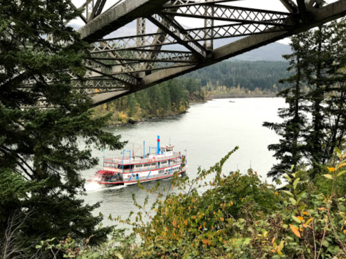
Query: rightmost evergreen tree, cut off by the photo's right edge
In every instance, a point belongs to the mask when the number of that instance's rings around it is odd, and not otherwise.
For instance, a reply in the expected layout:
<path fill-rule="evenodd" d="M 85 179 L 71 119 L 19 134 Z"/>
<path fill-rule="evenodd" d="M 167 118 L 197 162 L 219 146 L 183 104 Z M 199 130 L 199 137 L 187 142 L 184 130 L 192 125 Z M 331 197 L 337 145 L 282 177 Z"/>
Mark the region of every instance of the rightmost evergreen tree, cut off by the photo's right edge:
<path fill-rule="evenodd" d="M 327 64 L 324 69 L 326 76 L 322 82 L 325 89 L 323 111 L 326 118 L 322 163 L 329 161 L 335 147 L 343 150 L 346 136 L 346 19 L 333 21 L 329 28 L 324 61 Z"/>

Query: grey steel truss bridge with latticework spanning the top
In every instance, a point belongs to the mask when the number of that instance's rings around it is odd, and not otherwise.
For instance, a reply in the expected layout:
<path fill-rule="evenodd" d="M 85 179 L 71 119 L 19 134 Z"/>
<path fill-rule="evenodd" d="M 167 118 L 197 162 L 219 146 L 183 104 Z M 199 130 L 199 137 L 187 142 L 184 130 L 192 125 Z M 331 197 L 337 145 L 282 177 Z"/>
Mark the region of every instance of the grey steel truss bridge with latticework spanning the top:
<path fill-rule="evenodd" d="M 73 78 L 73 87 L 92 96 L 94 106 L 346 15 L 346 0 L 325 6 L 320 0 L 272 0 L 285 12 L 241 7 L 255 0 L 125 0 L 103 10 L 106 1 L 73 6 L 85 9 L 78 32 L 92 46 L 85 60 L 87 82 Z M 191 24 L 198 19 L 202 26 L 185 28 L 179 17 Z M 135 35 L 112 37 L 136 20 Z M 155 33 L 146 32 L 148 23 L 157 27 Z M 240 38 L 214 48 L 214 40 L 230 37 Z"/>

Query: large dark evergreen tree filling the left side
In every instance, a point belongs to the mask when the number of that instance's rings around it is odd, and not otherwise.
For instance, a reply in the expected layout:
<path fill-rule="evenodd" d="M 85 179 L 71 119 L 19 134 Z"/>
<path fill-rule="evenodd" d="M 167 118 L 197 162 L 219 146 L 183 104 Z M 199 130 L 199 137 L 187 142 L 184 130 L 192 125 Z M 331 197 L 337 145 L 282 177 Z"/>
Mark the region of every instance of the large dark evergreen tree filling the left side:
<path fill-rule="evenodd" d="M 87 46 L 64 25 L 79 15 L 70 3 L 0 4 L 0 242 L 10 218 L 25 220 L 16 233 L 23 247 L 68 234 L 77 240 L 94 234 L 101 241 L 109 231 L 96 229 L 102 217 L 92 211 L 99 204 L 83 204 L 76 195 L 84 189 L 80 172 L 98 163 L 92 146 L 114 150 L 123 143 L 101 130 L 108 118 L 91 120 L 89 100 L 71 88 L 69 73 L 80 78 L 85 73 Z M 30 108 L 42 101 L 50 108 Z M 12 257 L 25 253 L 31 251 Z"/>

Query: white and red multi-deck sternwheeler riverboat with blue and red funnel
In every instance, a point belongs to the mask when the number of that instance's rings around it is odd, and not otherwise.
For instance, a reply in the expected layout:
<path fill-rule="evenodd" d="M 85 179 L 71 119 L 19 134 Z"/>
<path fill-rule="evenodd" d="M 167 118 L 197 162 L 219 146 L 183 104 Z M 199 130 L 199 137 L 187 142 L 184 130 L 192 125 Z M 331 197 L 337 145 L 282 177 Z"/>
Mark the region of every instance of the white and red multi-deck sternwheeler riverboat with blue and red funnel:
<path fill-rule="evenodd" d="M 138 181 L 148 182 L 167 179 L 175 174 L 182 174 L 187 171 L 186 155 L 181 152 L 174 152 L 174 146 L 160 145 L 157 136 L 157 147 L 149 147 L 146 154 L 145 142 L 143 156 L 131 155 L 131 150 L 123 150 L 123 157 L 103 158 L 103 170 L 98 170 L 96 175 L 91 177 L 89 182 L 103 184 L 107 186 L 137 184 Z M 151 150 L 155 153 L 150 154 Z M 125 154 L 129 156 L 126 157 Z"/>

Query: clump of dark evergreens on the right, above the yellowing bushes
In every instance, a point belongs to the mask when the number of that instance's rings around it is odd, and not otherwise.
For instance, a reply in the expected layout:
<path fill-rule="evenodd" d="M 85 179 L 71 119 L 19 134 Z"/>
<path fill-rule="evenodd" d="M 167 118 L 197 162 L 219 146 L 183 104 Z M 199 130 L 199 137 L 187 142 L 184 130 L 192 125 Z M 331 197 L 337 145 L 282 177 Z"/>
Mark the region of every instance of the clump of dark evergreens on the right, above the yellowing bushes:
<path fill-rule="evenodd" d="M 344 149 L 346 21 L 334 21 L 328 26 L 320 26 L 317 30 L 301 34 L 300 37 L 299 40 L 293 37 L 293 54 L 287 56 L 291 59 L 291 67 L 295 68 L 296 74 L 284 80 L 290 84 L 295 83 L 295 91 L 291 90 L 293 87 L 279 93 L 289 104 L 288 109 L 281 109 L 279 116 L 293 119 L 285 120 L 284 123 L 264 124 L 283 137 L 279 144 L 269 146 L 281 161 L 273 167 L 269 176 L 277 177 L 280 175 L 278 170 L 304 161 L 312 166 L 313 176 L 320 170 L 318 164 L 329 162 L 334 148 Z M 306 85 L 300 84 L 298 88 L 298 82 Z M 294 108 L 291 109 L 292 107 Z M 291 114 L 293 111 L 294 115 Z M 311 116 L 310 123 L 305 114 Z M 302 155 L 307 160 L 302 161 Z"/>

